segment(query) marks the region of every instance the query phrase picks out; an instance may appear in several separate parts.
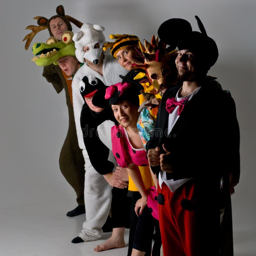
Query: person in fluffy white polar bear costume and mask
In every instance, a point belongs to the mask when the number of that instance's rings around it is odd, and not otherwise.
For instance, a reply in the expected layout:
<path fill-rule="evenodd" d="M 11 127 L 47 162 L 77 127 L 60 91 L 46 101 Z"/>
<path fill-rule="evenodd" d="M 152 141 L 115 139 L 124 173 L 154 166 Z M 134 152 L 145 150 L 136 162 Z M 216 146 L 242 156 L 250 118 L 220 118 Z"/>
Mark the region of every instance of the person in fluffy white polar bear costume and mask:
<path fill-rule="evenodd" d="M 103 31 L 104 27 L 100 25 L 85 23 L 73 36 L 76 58 L 84 63 L 73 78 L 72 94 L 78 144 L 83 151 L 85 160 L 84 201 L 86 221 L 83 223 L 82 231 L 78 237 L 72 240 L 72 243 L 98 240 L 102 236 L 101 228 L 108 218 L 111 205 L 112 187 L 104 179 L 104 176 L 93 168 L 84 146 L 83 132 L 80 126 L 80 115 L 85 101 L 81 95 L 79 84 L 81 84 L 84 76 L 96 77 L 109 86 L 121 82 L 119 75 L 125 76 L 128 72 L 119 65 L 109 52 L 103 53 L 102 48 L 106 43 Z M 98 129 L 108 129 L 113 124 L 113 122 L 108 121 L 108 126 L 102 125 Z M 106 136 L 105 140 L 104 144 L 109 147 L 111 138 Z M 112 161 L 115 162 L 113 155 Z"/>

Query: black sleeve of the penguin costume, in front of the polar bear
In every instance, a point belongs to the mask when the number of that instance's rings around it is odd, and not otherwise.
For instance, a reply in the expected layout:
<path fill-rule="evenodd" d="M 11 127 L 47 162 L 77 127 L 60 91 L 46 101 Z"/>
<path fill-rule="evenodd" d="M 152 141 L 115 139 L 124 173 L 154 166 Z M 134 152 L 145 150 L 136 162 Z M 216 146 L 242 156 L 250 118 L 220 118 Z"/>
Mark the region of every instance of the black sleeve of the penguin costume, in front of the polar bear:
<path fill-rule="evenodd" d="M 84 145 L 93 168 L 103 175 L 112 172 L 114 164 L 108 161 L 109 149 L 99 138 L 97 127 L 100 123 L 91 115 L 90 109 L 85 103 L 80 116 Z"/>

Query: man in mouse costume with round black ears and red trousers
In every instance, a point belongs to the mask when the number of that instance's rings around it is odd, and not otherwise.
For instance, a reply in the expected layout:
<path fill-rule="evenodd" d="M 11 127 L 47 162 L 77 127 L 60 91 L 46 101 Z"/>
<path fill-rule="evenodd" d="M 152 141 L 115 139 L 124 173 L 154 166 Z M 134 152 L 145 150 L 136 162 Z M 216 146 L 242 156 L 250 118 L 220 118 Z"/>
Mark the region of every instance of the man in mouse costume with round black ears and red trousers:
<path fill-rule="evenodd" d="M 147 143 L 148 161 L 159 179 L 163 252 L 169 256 L 220 255 L 220 204 L 230 200 L 240 175 L 235 102 L 206 77 L 219 53 L 196 20 L 201 33 L 177 20 L 179 86 L 164 93 Z M 168 21 L 158 35 L 172 44 L 165 38 L 167 29 Z"/>

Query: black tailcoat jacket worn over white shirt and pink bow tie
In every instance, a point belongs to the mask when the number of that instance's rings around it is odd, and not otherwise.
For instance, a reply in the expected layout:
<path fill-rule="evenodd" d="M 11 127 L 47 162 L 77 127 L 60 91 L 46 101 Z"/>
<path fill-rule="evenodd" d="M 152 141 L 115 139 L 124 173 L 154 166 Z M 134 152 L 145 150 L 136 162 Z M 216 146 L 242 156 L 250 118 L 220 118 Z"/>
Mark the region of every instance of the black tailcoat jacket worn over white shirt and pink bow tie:
<path fill-rule="evenodd" d="M 238 182 L 240 175 L 239 126 L 232 97 L 205 80 L 204 85 L 184 106 L 179 119 L 168 134 L 166 100 L 176 96 L 180 86 L 168 89 L 158 109 L 154 132 L 147 151 L 163 144 L 171 152 L 172 173 L 167 179 L 196 177 L 220 182 L 231 175 Z M 152 167 L 158 176 L 160 165 Z M 220 184 L 220 183 L 219 183 Z"/>

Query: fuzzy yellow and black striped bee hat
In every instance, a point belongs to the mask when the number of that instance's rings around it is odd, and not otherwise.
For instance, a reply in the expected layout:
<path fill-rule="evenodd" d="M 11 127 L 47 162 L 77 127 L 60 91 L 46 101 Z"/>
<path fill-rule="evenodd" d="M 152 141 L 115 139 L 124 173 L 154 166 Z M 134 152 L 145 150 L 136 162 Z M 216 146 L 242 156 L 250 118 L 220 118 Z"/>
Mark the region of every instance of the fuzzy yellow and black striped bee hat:
<path fill-rule="evenodd" d="M 127 47 L 134 47 L 139 44 L 139 37 L 134 35 L 109 35 L 111 39 L 116 39 L 115 42 L 108 42 L 104 44 L 103 50 L 107 51 L 110 48 L 110 53 L 116 59 L 116 53 Z"/>

